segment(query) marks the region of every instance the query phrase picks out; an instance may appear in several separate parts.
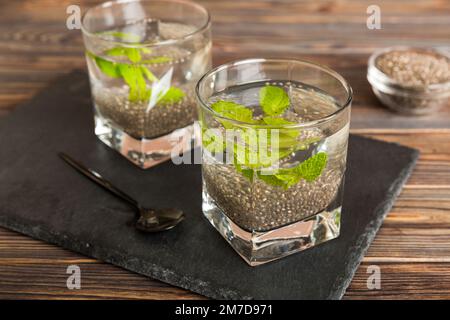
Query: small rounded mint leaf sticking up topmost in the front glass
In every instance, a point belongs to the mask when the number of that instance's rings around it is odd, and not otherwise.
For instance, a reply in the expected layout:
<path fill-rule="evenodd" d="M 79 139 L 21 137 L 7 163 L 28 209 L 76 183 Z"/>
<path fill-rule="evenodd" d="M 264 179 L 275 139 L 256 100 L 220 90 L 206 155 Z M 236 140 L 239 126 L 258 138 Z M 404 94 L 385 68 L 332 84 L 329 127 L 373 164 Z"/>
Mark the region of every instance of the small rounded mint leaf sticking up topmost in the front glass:
<path fill-rule="evenodd" d="M 280 87 L 265 86 L 259 91 L 259 104 L 269 116 L 282 114 L 289 107 L 289 96 Z"/>

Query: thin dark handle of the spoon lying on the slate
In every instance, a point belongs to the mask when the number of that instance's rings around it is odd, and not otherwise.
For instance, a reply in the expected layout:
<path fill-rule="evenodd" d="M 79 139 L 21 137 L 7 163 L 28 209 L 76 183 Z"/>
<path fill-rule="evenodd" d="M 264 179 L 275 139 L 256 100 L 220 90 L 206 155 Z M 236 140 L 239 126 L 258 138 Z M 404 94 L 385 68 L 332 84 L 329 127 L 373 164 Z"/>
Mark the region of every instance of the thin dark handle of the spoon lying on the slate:
<path fill-rule="evenodd" d="M 88 177 L 92 181 L 96 182 L 98 185 L 102 186 L 115 196 L 121 198 L 122 200 L 127 201 L 129 204 L 136 207 L 136 209 L 140 209 L 139 203 L 131 198 L 129 195 L 127 195 L 125 192 L 120 190 L 119 188 L 115 187 L 111 182 L 103 178 L 99 173 L 95 172 L 92 169 L 87 168 L 80 162 L 76 161 L 75 159 L 71 158 L 67 154 L 60 152 L 58 154 L 61 159 L 63 159 L 65 162 L 67 162 L 69 165 L 71 165 L 73 168 L 75 168 L 79 173 L 83 174 L 84 176 Z"/>

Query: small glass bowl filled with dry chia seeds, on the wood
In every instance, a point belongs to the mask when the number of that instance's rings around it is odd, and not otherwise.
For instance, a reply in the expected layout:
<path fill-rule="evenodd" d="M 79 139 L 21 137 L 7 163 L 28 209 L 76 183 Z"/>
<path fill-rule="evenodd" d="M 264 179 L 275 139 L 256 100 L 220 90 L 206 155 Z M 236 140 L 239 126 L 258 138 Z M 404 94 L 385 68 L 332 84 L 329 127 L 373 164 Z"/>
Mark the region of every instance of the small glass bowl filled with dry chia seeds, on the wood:
<path fill-rule="evenodd" d="M 450 55 L 430 48 L 382 49 L 369 58 L 367 80 L 388 108 L 429 114 L 449 103 Z"/>

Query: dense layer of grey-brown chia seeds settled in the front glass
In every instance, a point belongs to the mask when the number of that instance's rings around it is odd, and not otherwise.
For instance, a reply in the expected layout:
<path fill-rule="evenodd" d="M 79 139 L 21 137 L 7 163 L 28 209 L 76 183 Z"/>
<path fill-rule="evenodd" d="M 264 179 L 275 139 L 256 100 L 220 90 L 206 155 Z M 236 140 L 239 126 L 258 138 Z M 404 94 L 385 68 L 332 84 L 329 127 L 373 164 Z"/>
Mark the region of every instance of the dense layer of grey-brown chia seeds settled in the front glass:
<path fill-rule="evenodd" d="M 233 166 L 203 164 L 203 179 L 216 204 L 243 229 L 265 231 L 319 213 L 334 200 L 341 170 L 326 170 L 316 181 L 300 181 L 288 190 L 251 182 Z"/>

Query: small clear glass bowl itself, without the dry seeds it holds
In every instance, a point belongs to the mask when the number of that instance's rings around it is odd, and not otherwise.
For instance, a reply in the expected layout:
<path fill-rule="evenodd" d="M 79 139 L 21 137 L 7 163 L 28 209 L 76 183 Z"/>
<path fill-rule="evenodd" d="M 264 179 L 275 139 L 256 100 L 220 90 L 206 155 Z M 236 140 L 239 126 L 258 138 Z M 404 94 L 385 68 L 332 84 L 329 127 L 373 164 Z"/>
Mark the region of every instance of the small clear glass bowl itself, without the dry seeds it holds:
<path fill-rule="evenodd" d="M 449 59 L 442 51 L 429 48 L 390 47 L 374 52 L 369 58 L 367 80 L 378 99 L 390 109 L 409 115 L 429 114 L 447 105 L 450 97 L 450 81 L 430 85 L 407 85 L 382 72 L 377 59 L 392 51 L 427 53 Z"/>

